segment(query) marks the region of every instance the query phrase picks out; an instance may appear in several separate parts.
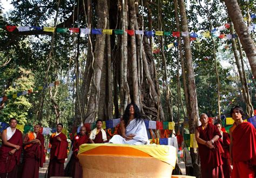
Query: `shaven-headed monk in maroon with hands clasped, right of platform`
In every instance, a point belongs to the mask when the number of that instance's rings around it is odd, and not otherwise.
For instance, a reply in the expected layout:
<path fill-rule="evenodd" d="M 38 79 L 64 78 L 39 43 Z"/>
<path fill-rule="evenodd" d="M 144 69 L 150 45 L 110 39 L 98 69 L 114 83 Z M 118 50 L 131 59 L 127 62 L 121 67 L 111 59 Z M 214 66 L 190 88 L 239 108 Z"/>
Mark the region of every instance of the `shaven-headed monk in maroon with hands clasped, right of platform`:
<path fill-rule="evenodd" d="M 201 126 L 196 128 L 196 140 L 201 161 L 201 177 L 224 177 L 223 161 L 221 153 L 224 153 L 219 138 L 221 134 L 218 128 L 208 124 L 206 114 L 200 115 Z"/>

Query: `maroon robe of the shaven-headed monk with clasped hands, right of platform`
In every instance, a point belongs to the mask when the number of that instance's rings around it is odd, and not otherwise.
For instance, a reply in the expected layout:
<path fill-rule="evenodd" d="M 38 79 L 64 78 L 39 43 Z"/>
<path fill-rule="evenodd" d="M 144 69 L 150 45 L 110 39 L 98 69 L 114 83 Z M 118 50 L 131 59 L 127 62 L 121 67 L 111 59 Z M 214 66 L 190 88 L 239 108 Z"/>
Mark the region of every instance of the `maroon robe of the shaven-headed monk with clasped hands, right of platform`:
<path fill-rule="evenodd" d="M 208 124 L 205 129 L 202 126 L 196 128 L 200 134 L 199 138 L 208 141 L 213 139 L 215 135 L 221 134 L 217 126 Z M 217 140 L 213 143 L 215 148 L 208 148 L 206 145 L 198 143 L 198 150 L 201 161 L 201 176 L 202 177 L 224 177 L 223 175 L 223 161 L 221 160 L 221 153 L 224 153 L 220 141 Z"/>

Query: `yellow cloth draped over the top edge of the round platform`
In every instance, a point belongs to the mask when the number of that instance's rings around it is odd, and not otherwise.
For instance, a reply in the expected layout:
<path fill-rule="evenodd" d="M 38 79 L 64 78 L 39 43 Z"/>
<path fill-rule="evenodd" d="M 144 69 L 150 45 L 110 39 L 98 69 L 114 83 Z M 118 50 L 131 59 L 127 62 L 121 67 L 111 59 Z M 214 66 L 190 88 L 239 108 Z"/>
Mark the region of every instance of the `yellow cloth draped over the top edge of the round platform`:
<path fill-rule="evenodd" d="M 169 145 L 125 145 L 125 144 L 113 144 L 113 143 L 95 143 L 95 144 L 83 144 L 79 147 L 78 154 L 86 152 L 87 150 L 99 147 L 99 146 L 118 146 L 118 147 L 131 147 L 141 150 L 150 156 L 168 163 L 173 168 L 177 161 L 177 150 L 173 146 Z"/>

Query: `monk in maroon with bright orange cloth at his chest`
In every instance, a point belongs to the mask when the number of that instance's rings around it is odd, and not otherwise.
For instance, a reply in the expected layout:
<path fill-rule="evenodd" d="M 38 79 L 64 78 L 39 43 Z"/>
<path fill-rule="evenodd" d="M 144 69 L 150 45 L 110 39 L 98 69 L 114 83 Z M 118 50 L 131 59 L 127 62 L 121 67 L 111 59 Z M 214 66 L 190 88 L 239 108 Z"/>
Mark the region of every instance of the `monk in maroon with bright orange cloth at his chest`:
<path fill-rule="evenodd" d="M 41 125 L 35 125 L 34 132 L 26 134 L 23 140 L 24 165 L 22 178 L 38 178 L 39 167 L 44 166 L 44 136 L 39 133 L 40 129 Z"/>

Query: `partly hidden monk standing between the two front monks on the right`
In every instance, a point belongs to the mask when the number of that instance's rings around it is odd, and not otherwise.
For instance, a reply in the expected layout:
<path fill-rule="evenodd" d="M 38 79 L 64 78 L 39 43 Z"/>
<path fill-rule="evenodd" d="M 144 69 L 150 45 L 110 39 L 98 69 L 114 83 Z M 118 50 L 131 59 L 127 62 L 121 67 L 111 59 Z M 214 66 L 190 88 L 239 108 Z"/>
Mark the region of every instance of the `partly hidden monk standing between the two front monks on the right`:
<path fill-rule="evenodd" d="M 220 134 L 222 136 L 220 143 L 224 150 L 224 153 L 221 154 L 221 158 L 223 161 L 222 168 L 223 168 L 224 177 L 230 178 L 231 172 L 232 172 L 231 163 L 230 163 L 230 134 L 221 131 L 222 126 L 220 122 L 217 122 L 214 125 L 218 127 Z"/>

